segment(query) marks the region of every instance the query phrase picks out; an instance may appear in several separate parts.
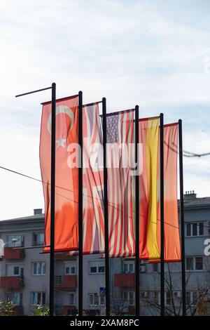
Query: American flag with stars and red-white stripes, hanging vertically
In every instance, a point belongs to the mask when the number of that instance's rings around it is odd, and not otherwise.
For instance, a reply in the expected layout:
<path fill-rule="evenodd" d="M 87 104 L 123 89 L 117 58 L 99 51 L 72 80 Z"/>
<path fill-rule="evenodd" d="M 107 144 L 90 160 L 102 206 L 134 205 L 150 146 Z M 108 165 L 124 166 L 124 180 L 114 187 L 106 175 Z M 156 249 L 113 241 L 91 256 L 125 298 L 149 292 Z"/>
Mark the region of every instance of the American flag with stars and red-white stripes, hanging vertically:
<path fill-rule="evenodd" d="M 131 143 L 134 143 L 134 110 L 107 115 L 108 213 L 109 255 L 133 256 L 135 251 L 135 226 L 132 215 L 132 176 L 130 166 Z M 128 163 L 123 165 L 125 149 Z M 121 147 L 120 147 L 121 146 Z M 133 150 L 133 149 L 132 149 Z M 116 154 L 118 152 L 118 154 Z M 124 159 L 125 160 L 125 159 Z"/>

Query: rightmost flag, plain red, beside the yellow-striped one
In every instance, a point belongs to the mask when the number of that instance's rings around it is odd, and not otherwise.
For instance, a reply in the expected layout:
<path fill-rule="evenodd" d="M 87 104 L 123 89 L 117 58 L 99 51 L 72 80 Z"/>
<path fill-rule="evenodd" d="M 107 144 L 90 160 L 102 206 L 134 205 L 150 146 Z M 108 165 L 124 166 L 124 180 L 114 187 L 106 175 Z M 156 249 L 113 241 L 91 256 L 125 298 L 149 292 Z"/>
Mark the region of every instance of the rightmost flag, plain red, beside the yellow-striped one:
<path fill-rule="evenodd" d="M 181 261 L 177 202 L 178 124 L 164 125 L 164 226 L 165 261 Z M 160 152 L 160 150 L 159 150 Z M 158 182 L 160 183 L 160 153 Z M 158 246 L 160 249 L 160 185 L 158 187 Z"/>

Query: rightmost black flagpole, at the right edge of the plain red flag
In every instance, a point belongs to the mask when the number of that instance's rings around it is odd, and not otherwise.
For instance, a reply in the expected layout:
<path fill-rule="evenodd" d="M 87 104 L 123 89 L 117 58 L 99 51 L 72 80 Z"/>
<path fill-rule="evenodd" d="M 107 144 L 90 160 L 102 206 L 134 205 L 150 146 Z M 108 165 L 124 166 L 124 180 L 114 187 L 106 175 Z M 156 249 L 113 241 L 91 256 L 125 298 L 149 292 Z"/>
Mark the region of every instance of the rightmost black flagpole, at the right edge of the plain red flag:
<path fill-rule="evenodd" d="M 185 260 L 185 223 L 183 209 L 183 145 L 182 120 L 179 119 L 179 187 L 180 187 L 180 219 L 181 219 L 181 284 L 182 315 L 186 316 L 186 260 Z"/>

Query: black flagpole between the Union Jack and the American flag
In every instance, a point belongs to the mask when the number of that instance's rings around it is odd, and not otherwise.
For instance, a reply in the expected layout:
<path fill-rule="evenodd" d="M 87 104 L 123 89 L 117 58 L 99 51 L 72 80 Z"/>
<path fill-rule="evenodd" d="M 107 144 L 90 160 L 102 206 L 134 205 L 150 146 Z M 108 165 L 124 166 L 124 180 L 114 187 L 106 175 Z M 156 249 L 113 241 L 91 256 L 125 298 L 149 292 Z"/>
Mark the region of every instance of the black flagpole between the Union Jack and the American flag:
<path fill-rule="evenodd" d="M 106 167 L 106 98 L 102 98 L 103 149 L 104 149 L 104 228 L 105 228 L 105 282 L 106 282 L 106 317 L 110 316 L 110 283 L 109 283 L 109 218 L 108 189 Z"/>

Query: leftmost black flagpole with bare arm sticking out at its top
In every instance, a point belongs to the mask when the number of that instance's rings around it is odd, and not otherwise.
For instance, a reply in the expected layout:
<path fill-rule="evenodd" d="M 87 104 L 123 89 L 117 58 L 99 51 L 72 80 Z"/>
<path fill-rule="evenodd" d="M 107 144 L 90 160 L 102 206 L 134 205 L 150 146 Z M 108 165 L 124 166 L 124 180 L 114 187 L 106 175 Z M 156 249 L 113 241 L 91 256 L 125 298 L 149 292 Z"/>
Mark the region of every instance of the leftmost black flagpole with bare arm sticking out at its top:
<path fill-rule="evenodd" d="M 54 315 L 54 255 L 55 255 L 55 128 L 56 128 L 56 84 L 19 95 L 29 95 L 52 89 L 52 128 L 51 128 L 51 185 L 50 185 L 50 316 Z"/>

